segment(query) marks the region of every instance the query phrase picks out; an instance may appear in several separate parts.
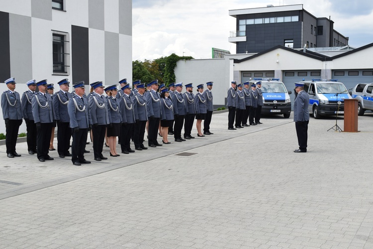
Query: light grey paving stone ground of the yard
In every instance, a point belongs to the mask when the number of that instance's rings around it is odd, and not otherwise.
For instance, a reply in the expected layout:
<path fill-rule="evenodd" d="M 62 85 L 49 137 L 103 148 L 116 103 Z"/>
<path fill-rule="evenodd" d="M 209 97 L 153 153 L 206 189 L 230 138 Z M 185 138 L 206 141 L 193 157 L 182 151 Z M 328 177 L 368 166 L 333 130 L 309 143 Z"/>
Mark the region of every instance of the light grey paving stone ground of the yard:
<path fill-rule="evenodd" d="M 0 146 L 0 248 L 373 248 L 373 113 L 358 133 L 311 118 L 307 153 L 291 118 L 228 131 L 222 112 L 214 135 L 88 166 Z"/>

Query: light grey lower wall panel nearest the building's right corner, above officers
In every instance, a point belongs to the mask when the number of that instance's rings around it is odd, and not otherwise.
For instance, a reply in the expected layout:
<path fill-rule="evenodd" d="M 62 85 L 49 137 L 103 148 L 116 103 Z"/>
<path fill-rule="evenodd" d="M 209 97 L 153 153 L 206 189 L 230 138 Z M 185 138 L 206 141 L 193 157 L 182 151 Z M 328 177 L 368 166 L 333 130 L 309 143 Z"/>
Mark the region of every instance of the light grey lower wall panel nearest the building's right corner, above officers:
<path fill-rule="evenodd" d="M 105 82 L 116 84 L 119 78 L 119 34 L 105 31 Z"/>

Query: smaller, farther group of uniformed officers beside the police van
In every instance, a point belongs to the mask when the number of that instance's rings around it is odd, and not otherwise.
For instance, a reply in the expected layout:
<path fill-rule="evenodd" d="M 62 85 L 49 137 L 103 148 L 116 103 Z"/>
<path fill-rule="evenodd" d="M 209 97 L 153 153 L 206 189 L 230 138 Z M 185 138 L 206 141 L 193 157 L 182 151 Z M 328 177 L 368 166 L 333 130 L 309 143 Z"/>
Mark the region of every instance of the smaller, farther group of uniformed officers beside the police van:
<path fill-rule="evenodd" d="M 260 122 L 263 106 L 261 87 L 260 81 L 248 81 L 243 84 L 231 82 L 227 93 L 228 130 L 263 124 Z"/>

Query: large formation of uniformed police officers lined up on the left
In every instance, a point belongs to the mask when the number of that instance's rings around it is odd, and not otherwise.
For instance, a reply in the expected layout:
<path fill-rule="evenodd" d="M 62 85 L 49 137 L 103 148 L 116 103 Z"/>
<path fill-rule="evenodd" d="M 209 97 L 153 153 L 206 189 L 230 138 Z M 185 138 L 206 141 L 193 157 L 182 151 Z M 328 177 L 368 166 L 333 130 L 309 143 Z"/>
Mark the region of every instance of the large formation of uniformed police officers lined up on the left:
<path fill-rule="evenodd" d="M 84 157 L 88 131 L 91 131 L 95 161 L 106 160 L 102 155 L 105 134 L 119 137 L 121 152 L 134 153 L 135 150 L 148 149 L 144 146 L 145 127 L 148 123 L 148 145 L 162 146 L 158 143 L 158 129 L 162 131 L 163 143 L 168 142 L 167 135 L 174 135 L 176 142 L 183 142 L 191 136 L 194 118 L 197 115 L 198 136 L 211 135 L 209 126 L 213 111 L 212 82 L 197 86 L 198 92 L 192 93 L 192 83 L 186 85 L 187 92 L 182 93 L 183 83 L 170 83 L 169 89 L 164 84 L 158 91 L 158 80 L 145 84 L 140 80 L 133 82 L 131 89 L 127 79 L 117 85 L 105 88 L 102 82 L 91 83 L 89 94 L 85 92 L 84 81 L 74 83 L 73 92 L 69 92 L 70 82 L 64 79 L 58 82 L 60 90 L 53 95 L 47 92 L 47 80 L 27 82 L 28 90 L 22 97 L 15 89 L 15 78 L 6 80 L 8 90 L 1 94 L 1 108 L 5 121 L 6 154 L 8 158 L 20 157 L 15 150 L 19 126 L 22 118 L 27 129 L 27 149 L 30 155 L 37 154 L 40 162 L 54 160 L 48 155 L 53 124 L 58 126 L 57 152 L 60 158 L 72 157 L 74 165 L 90 164 Z M 38 90 L 36 89 L 38 88 Z M 147 88 L 147 89 L 146 89 Z M 103 93 L 106 92 L 106 96 Z M 201 120 L 204 120 L 203 134 Z M 199 129 L 198 129 L 199 121 Z M 182 129 L 184 125 L 184 139 Z M 70 149 L 70 139 L 73 138 Z M 114 145 L 116 142 L 114 143 Z M 106 143 L 105 143 L 106 145 Z M 115 146 L 114 146 L 115 147 Z M 118 157 L 116 149 L 110 148 L 110 156 Z"/>

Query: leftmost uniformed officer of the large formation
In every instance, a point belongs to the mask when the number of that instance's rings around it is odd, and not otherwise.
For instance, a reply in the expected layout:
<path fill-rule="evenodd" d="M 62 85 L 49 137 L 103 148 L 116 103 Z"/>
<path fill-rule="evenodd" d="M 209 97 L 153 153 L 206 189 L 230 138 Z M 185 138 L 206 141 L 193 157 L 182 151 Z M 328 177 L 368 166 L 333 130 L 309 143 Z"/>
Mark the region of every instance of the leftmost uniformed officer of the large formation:
<path fill-rule="evenodd" d="M 19 126 L 22 124 L 22 106 L 19 93 L 14 91 L 15 78 L 5 81 L 8 90 L 1 94 L 2 117 L 5 120 L 5 145 L 8 158 L 20 157 L 15 152 Z"/>

